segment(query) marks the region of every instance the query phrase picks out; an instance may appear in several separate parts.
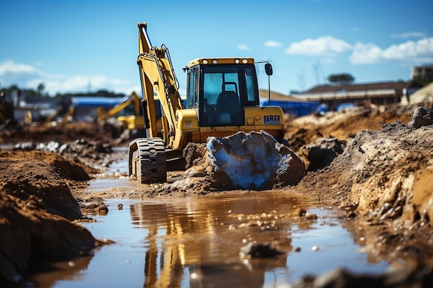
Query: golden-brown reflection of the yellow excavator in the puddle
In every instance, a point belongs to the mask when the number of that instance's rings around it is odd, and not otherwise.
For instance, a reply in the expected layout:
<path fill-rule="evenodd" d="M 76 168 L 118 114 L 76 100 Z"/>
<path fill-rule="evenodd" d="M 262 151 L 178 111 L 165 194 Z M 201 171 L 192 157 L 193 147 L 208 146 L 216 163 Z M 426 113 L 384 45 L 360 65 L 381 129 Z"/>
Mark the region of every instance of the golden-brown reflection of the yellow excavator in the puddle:
<path fill-rule="evenodd" d="M 148 233 L 143 287 L 264 287 L 266 272 L 286 268 L 287 254 L 268 262 L 244 262 L 239 258 L 239 251 L 245 245 L 246 235 L 253 242 L 264 243 L 269 239 L 268 233 L 275 231 L 264 233 L 255 225 L 231 230 L 234 218 L 221 211 L 226 207 L 230 211 L 262 215 L 266 209 L 275 208 L 273 203 L 273 200 L 250 199 L 245 204 L 215 199 L 214 202 L 131 204 L 133 226 Z M 285 227 L 279 233 L 289 231 L 291 220 L 277 221 L 282 221 L 278 222 L 280 228 Z M 221 238 L 225 244 L 221 244 Z M 286 243 L 291 243 L 290 236 L 279 240 L 282 246 Z M 292 247 L 286 248 L 290 251 Z"/>

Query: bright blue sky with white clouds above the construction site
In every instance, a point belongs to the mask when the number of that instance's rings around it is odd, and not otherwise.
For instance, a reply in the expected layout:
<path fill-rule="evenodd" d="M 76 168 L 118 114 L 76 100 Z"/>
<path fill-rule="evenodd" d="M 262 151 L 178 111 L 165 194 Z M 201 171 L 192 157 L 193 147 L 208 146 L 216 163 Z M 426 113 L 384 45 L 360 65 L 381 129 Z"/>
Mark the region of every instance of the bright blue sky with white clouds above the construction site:
<path fill-rule="evenodd" d="M 270 61 L 282 94 L 350 73 L 356 83 L 409 80 L 433 64 L 433 1 L 1 1 L 0 86 L 140 93 L 138 22 L 182 67 L 199 57 Z M 260 88 L 268 88 L 259 70 Z"/>

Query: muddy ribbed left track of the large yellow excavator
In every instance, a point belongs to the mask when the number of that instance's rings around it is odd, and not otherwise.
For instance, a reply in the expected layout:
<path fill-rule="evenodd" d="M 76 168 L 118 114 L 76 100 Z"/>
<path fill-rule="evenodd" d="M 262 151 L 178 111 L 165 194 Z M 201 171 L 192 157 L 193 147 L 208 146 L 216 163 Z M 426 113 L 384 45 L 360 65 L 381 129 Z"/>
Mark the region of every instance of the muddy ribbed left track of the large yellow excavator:
<path fill-rule="evenodd" d="M 160 138 L 137 138 L 129 144 L 129 176 L 142 184 L 167 182 L 165 145 Z"/>

